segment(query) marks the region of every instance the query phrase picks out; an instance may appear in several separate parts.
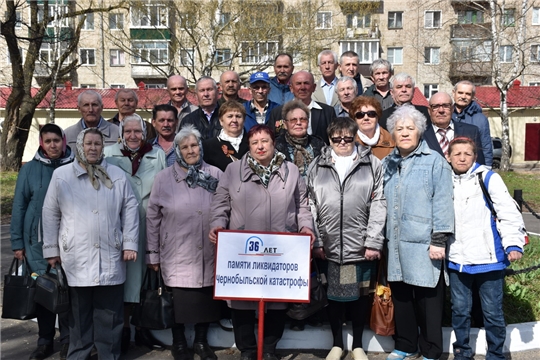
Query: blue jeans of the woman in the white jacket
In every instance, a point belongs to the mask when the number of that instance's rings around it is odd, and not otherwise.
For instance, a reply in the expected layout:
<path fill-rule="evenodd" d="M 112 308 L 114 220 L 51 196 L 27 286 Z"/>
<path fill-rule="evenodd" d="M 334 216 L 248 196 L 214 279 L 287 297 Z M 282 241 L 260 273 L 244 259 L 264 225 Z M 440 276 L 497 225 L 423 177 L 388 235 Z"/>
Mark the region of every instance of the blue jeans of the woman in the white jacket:
<path fill-rule="evenodd" d="M 502 309 L 504 270 L 482 274 L 460 273 L 449 269 L 452 294 L 452 327 L 456 336 L 454 357 L 456 360 L 471 359 L 469 345 L 471 329 L 472 287 L 477 284 L 484 315 L 484 327 L 488 350 L 486 360 L 505 359 L 503 345 L 506 339 L 506 323 Z"/>

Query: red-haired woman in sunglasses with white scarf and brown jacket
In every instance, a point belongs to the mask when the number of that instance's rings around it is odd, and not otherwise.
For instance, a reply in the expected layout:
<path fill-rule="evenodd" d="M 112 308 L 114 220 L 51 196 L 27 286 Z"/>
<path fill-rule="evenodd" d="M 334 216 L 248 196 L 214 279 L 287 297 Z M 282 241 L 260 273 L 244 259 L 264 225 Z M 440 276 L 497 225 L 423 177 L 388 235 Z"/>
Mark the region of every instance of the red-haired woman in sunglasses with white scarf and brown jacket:
<path fill-rule="evenodd" d="M 350 110 L 358 124 L 356 142 L 370 146 L 373 155 L 381 160 L 390 154 L 396 144 L 392 135 L 379 126 L 382 116 L 381 103 L 371 96 L 359 96 L 351 103 Z"/>

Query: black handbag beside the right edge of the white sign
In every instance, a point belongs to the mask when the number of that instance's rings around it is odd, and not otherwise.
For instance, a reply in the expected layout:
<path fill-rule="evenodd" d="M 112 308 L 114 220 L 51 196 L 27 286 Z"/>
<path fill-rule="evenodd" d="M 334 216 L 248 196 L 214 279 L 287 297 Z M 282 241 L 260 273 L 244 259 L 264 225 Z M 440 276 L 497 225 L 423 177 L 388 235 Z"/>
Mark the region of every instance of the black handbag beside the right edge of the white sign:
<path fill-rule="evenodd" d="M 326 297 L 326 276 L 321 274 L 317 262 L 311 259 L 313 272 L 311 273 L 311 286 L 309 303 L 290 303 L 287 315 L 295 320 L 304 320 L 328 305 Z"/>

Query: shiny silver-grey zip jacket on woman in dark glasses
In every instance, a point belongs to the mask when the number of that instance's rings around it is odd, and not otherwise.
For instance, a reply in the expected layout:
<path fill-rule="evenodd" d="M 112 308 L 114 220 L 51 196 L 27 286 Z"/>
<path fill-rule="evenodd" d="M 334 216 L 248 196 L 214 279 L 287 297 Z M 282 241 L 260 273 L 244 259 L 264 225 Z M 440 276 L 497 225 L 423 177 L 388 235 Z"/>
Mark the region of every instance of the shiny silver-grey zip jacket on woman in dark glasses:
<path fill-rule="evenodd" d="M 339 264 L 362 261 L 366 248 L 383 248 L 382 164 L 369 148 L 359 145 L 358 156 L 341 184 L 331 150 L 325 147 L 308 170 L 318 235 L 314 246 L 324 246 L 327 259 Z"/>

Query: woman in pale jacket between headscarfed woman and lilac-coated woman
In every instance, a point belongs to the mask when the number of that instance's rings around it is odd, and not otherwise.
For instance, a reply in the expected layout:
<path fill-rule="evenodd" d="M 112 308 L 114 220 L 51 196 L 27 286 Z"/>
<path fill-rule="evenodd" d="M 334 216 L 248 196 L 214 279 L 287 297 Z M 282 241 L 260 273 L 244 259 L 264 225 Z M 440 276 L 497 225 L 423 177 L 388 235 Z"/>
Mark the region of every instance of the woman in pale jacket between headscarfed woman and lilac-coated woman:
<path fill-rule="evenodd" d="M 128 115 L 120 122 L 120 143 L 107 146 L 105 157 L 109 164 L 118 166 L 126 172 L 126 176 L 139 203 L 139 254 L 146 251 L 146 207 L 150 190 L 157 173 L 166 168 L 165 153 L 146 142 L 146 122 L 137 114 Z M 129 348 L 131 326 L 129 317 L 133 303 L 139 302 L 141 283 L 146 266 L 144 257 L 127 263 L 126 282 L 124 284 L 124 329 L 122 332 L 122 352 Z M 144 335 L 143 335 L 144 333 Z M 149 334 L 136 329 L 135 340 L 144 342 Z"/>

